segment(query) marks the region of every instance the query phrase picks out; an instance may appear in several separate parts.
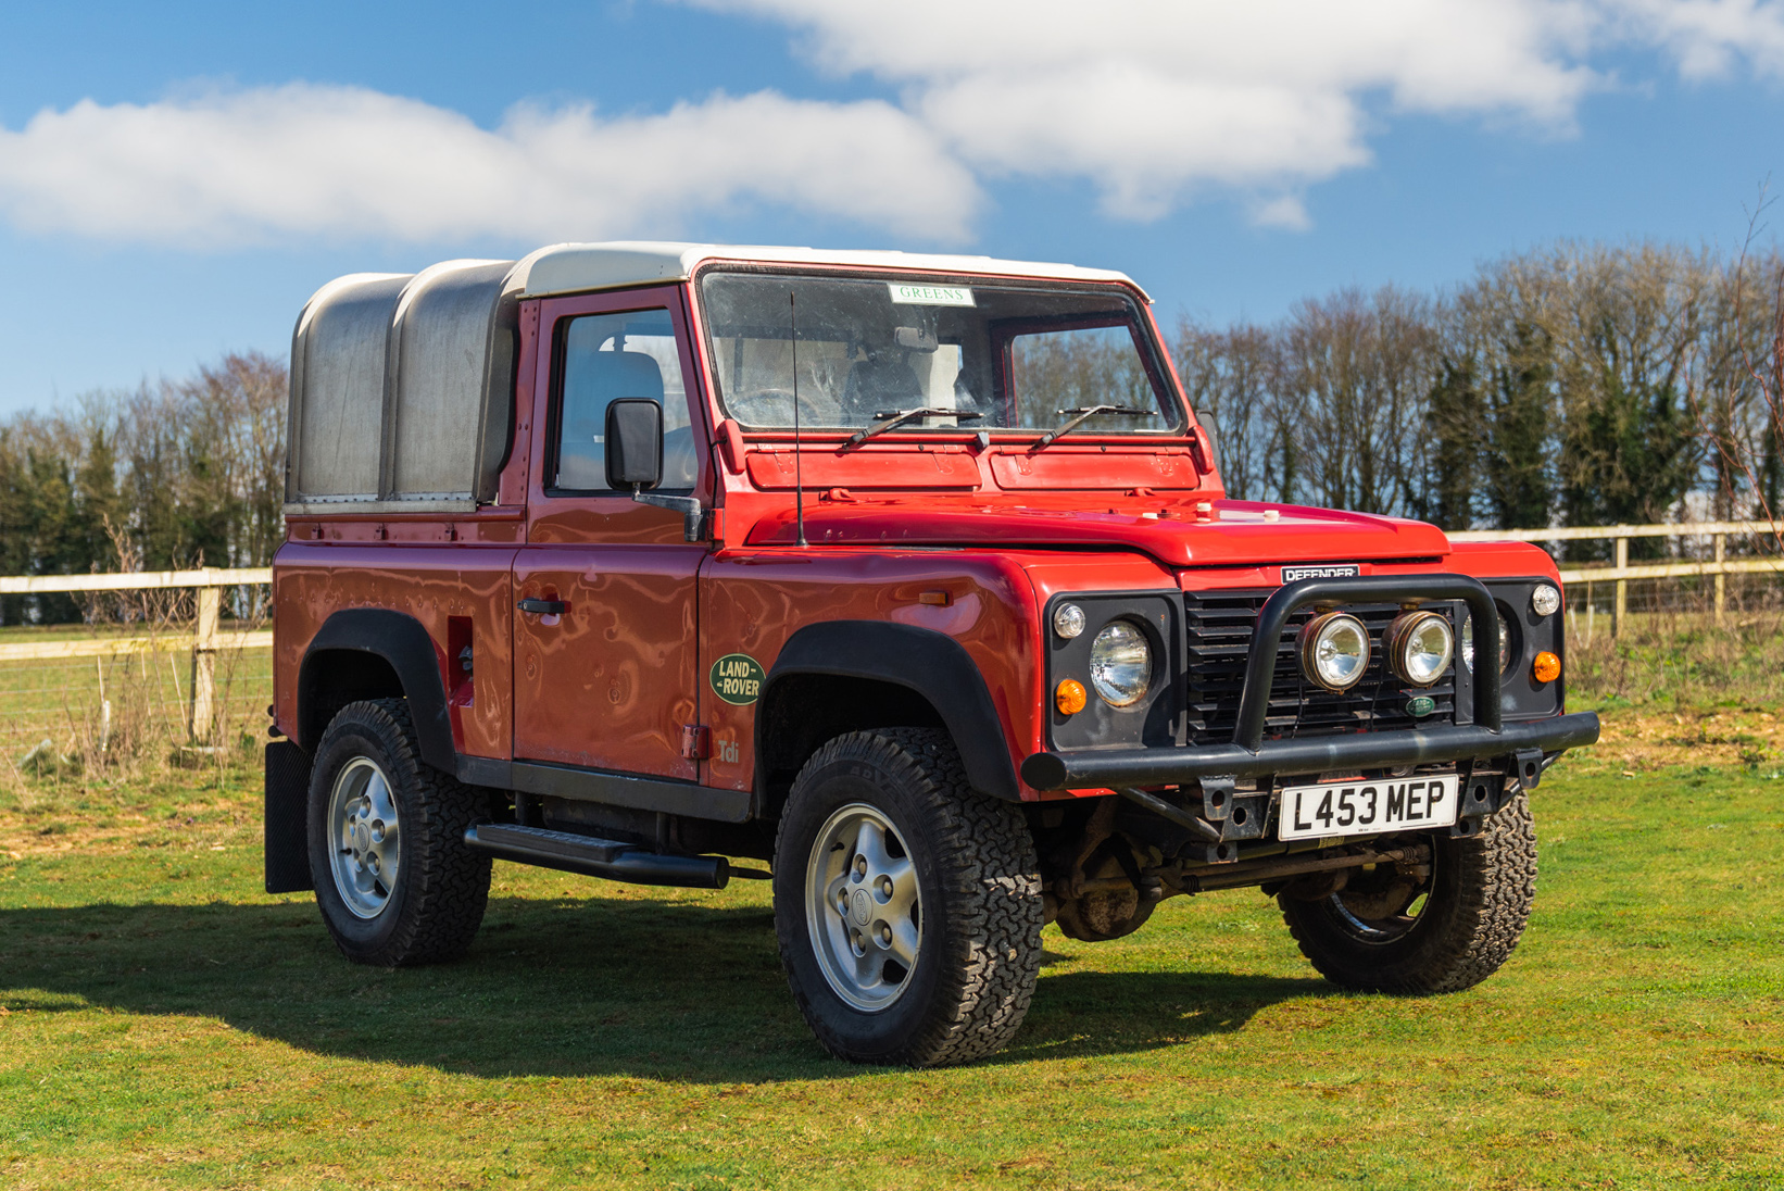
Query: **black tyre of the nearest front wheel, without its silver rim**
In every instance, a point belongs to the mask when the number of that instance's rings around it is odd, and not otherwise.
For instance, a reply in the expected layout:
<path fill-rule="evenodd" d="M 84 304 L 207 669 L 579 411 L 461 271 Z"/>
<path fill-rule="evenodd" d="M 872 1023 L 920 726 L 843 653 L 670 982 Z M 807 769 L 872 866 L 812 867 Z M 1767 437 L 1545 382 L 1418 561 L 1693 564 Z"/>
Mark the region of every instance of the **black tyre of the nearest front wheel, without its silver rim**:
<path fill-rule="evenodd" d="M 921 946 L 906 986 L 872 1012 L 837 993 L 808 927 L 819 832 L 851 805 L 890 821 L 921 898 Z M 1035 995 L 1042 925 L 1028 821 L 1015 805 L 972 789 L 944 732 L 851 732 L 799 770 L 774 841 L 774 930 L 794 1000 L 838 1059 L 926 1068 L 1001 1050 Z"/>

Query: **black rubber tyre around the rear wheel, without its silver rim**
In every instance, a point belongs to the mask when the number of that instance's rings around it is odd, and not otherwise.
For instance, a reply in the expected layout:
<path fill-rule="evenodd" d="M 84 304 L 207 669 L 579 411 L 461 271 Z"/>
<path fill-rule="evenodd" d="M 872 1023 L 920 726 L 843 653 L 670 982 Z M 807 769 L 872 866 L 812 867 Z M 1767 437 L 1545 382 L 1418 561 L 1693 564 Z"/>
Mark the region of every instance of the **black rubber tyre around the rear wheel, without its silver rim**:
<path fill-rule="evenodd" d="M 337 775 L 371 759 L 389 779 L 401 834 L 398 875 L 382 911 L 348 909 L 330 868 L 330 796 Z M 409 704 L 401 698 L 348 704 L 316 748 L 309 793 L 310 875 L 323 923 L 341 954 L 359 964 L 403 968 L 464 955 L 489 904 L 487 855 L 464 843 L 480 816 L 473 787 L 421 761 Z"/>

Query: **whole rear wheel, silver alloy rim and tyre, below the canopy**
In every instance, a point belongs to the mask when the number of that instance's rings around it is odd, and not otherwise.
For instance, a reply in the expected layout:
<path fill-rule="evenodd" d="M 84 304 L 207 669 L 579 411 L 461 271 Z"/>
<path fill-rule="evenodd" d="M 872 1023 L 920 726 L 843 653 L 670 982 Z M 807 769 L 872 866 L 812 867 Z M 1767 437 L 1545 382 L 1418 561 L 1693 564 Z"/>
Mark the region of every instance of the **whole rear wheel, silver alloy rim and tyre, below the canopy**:
<path fill-rule="evenodd" d="M 469 786 L 421 761 L 409 704 L 348 704 L 310 771 L 316 904 L 341 954 L 360 964 L 457 959 L 489 902 L 489 857 L 464 845 Z"/>

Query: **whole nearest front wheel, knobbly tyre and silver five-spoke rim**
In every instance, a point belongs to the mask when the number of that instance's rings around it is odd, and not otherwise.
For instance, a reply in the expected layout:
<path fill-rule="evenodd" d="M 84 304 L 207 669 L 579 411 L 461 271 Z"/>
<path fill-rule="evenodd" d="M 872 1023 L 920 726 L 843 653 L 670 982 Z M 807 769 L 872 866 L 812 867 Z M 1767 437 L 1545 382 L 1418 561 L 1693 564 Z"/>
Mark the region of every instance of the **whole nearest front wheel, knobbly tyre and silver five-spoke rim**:
<path fill-rule="evenodd" d="M 1035 995 L 1042 918 L 1028 823 L 967 784 L 942 732 L 851 732 L 799 770 L 774 929 L 837 1057 L 938 1066 L 1001 1050 Z"/>

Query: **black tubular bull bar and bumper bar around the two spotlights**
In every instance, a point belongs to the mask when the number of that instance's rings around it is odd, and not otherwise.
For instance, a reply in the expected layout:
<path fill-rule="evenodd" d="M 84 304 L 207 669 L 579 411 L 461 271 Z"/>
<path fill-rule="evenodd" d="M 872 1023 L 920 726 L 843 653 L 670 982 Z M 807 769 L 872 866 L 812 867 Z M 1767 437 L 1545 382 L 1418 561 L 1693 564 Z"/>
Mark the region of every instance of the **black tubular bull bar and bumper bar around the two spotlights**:
<path fill-rule="evenodd" d="M 1245 689 L 1229 745 L 1192 748 L 1072 748 L 1038 752 L 1022 762 L 1022 780 L 1035 789 L 1169 786 L 1204 777 L 1265 777 L 1331 770 L 1433 764 L 1520 752 L 1556 754 L 1598 739 L 1598 716 L 1577 712 L 1506 725 L 1500 716 L 1499 666 L 1474 671 L 1474 723 L 1356 732 L 1315 739 L 1265 741 L 1270 684 L 1288 618 L 1309 604 L 1463 600 L 1474 612 L 1475 657 L 1499 657 L 1499 616 L 1493 596 L 1468 575 L 1370 575 L 1367 579 L 1302 579 L 1284 584 L 1258 612 L 1245 659 Z"/>

